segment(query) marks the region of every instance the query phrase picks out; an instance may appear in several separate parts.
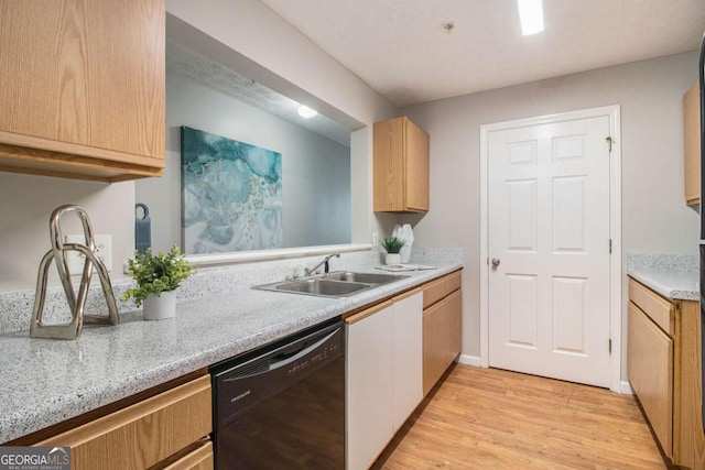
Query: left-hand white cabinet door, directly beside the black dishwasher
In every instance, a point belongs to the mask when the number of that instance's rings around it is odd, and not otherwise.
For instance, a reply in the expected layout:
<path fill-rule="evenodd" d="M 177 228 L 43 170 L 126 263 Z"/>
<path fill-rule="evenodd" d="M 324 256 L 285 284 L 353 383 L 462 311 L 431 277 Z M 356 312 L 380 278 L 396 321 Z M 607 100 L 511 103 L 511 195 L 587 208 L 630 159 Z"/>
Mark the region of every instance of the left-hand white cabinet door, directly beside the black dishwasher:
<path fill-rule="evenodd" d="M 376 307 L 372 307 L 376 309 Z M 392 436 L 392 338 L 394 306 L 346 319 L 346 460 L 365 470 Z"/>

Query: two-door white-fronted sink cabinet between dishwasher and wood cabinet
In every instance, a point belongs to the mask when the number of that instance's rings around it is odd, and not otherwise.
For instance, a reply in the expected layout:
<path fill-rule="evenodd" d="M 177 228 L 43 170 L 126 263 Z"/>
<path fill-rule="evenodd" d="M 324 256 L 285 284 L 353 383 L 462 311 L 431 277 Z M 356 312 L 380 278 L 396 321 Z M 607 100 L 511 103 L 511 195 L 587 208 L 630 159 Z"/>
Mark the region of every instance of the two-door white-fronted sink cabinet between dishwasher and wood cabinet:
<path fill-rule="evenodd" d="M 345 321 L 346 467 L 364 470 L 423 398 L 422 294 L 412 291 Z"/>

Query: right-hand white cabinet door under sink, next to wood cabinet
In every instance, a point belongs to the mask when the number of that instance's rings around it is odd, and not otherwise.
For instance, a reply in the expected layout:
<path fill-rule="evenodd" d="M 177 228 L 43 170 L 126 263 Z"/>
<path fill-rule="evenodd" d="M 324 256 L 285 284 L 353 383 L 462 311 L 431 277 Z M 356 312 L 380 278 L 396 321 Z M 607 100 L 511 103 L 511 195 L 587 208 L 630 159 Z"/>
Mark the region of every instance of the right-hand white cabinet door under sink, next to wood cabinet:
<path fill-rule="evenodd" d="M 399 430 L 423 400 L 423 293 L 394 303 L 393 425 Z"/>

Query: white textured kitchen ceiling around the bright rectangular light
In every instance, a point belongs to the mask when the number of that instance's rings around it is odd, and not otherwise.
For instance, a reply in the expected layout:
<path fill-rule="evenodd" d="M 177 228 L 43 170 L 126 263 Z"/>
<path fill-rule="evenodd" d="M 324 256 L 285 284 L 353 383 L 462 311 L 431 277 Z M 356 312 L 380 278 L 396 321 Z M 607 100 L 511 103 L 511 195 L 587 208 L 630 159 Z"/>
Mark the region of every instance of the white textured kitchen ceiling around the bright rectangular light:
<path fill-rule="evenodd" d="M 398 107 L 699 47 L 703 0 L 261 0 Z M 446 32 L 444 24 L 454 23 Z"/>

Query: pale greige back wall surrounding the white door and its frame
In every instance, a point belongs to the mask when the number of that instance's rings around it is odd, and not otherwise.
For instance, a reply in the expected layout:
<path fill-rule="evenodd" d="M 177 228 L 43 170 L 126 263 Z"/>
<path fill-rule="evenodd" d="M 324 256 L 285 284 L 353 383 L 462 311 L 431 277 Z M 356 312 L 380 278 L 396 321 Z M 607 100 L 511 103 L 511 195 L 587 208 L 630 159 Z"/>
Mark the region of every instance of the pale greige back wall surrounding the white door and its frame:
<path fill-rule="evenodd" d="M 431 134 L 431 211 L 410 218 L 414 245 L 464 249 L 465 354 L 479 356 L 480 125 L 620 105 L 622 249 L 694 254 L 698 215 L 683 201 L 682 97 L 696 80 L 692 52 L 402 110 Z"/>

